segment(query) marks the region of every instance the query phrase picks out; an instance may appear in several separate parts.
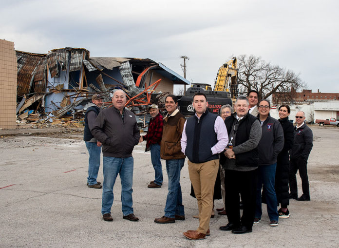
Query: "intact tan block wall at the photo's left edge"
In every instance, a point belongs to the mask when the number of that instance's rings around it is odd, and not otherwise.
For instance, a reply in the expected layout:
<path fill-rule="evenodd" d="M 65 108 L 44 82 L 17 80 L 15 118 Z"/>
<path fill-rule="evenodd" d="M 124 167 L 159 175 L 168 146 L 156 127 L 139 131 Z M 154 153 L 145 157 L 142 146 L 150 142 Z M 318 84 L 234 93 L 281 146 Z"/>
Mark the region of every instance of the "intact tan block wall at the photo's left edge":
<path fill-rule="evenodd" d="M 16 128 L 17 57 L 14 42 L 0 39 L 0 128 Z"/>

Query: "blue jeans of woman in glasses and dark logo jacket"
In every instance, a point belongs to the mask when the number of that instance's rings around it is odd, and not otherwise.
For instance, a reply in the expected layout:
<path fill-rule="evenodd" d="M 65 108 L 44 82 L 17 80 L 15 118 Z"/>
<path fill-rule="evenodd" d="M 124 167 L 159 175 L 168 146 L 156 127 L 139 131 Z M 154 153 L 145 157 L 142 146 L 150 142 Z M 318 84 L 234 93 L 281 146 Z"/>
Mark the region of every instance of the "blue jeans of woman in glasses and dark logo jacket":
<path fill-rule="evenodd" d="M 258 168 L 258 184 L 257 184 L 257 200 L 255 218 L 261 219 L 262 216 L 262 188 L 265 188 L 265 197 L 267 204 L 267 213 L 271 221 L 278 221 L 279 215 L 277 211 L 277 195 L 274 189 L 275 173 L 277 164 L 272 165 L 260 165 Z"/>

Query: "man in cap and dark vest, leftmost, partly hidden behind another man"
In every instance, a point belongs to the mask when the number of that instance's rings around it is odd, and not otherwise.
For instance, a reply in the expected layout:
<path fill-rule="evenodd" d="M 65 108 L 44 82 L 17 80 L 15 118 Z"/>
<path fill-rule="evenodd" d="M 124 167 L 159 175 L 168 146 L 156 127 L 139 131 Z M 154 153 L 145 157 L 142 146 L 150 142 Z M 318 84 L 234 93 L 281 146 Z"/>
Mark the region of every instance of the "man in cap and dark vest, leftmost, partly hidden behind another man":
<path fill-rule="evenodd" d="M 94 120 L 96 116 L 101 111 L 101 107 L 103 104 L 104 97 L 99 94 L 94 94 L 92 96 L 92 102 L 90 102 L 87 106 L 87 110 L 85 113 L 85 129 L 84 129 L 84 141 L 86 143 L 86 147 L 88 153 L 90 154 L 90 159 L 88 163 L 88 177 L 87 177 L 87 185 L 89 188 L 101 189 L 101 183 L 96 181 L 98 176 L 98 171 L 100 167 L 100 154 L 101 154 L 101 143 L 94 138 L 91 133 L 91 129 L 94 126 Z"/>

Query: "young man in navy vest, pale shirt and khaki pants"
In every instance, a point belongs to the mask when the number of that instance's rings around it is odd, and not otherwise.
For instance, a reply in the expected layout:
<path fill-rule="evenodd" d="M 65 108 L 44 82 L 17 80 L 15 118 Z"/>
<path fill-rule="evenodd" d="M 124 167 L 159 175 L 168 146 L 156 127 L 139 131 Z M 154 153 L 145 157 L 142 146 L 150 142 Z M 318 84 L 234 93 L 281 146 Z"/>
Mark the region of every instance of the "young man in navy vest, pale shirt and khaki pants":
<path fill-rule="evenodd" d="M 198 201 L 199 227 L 184 232 L 191 240 L 209 235 L 209 219 L 213 208 L 215 179 L 219 172 L 219 153 L 224 151 L 228 135 L 223 119 L 207 110 L 204 93 L 193 96 L 195 115 L 184 125 L 181 151 L 188 157 L 188 172 Z"/>

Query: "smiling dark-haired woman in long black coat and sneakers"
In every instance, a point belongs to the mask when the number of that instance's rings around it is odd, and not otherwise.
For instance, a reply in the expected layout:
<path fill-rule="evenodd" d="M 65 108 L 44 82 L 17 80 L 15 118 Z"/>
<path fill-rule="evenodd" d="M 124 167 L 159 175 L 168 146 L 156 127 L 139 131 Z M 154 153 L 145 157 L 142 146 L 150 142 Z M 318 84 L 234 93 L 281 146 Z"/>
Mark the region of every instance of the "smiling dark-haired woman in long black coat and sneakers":
<path fill-rule="evenodd" d="M 288 105 L 284 104 L 279 107 L 279 122 L 282 124 L 284 145 L 282 151 L 277 157 L 277 169 L 275 177 L 275 191 L 277 194 L 278 206 L 281 204 L 281 209 L 278 210 L 279 218 L 288 218 L 288 166 L 289 155 L 288 151 L 292 148 L 294 141 L 294 127 L 292 122 L 288 120 L 288 115 L 291 113 L 291 109 Z"/>

